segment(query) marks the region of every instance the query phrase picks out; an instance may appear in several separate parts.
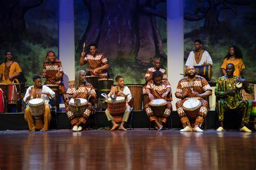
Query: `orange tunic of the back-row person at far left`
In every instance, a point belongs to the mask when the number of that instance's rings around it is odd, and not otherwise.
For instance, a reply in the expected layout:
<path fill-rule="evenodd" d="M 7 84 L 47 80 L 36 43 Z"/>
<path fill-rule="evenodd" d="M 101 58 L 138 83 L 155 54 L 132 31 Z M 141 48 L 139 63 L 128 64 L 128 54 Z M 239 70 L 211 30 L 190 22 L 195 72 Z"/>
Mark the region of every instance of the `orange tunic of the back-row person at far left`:
<path fill-rule="evenodd" d="M 0 74 L 3 74 L 1 83 L 3 84 L 9 84 L 9 83 L 14 83 L 16 81 L 17 83 L 19 82 L 18 79 L 14 79 L 13 81 L 10 81 L 9 76 L 14 75 L 16 73 L 21 73 L 22 69 L 19 67 L 18 62 L 12 62 L 11 65 L 8 67 L 5 66 L 5 62 L 3 62 L 0 65 Z"/>

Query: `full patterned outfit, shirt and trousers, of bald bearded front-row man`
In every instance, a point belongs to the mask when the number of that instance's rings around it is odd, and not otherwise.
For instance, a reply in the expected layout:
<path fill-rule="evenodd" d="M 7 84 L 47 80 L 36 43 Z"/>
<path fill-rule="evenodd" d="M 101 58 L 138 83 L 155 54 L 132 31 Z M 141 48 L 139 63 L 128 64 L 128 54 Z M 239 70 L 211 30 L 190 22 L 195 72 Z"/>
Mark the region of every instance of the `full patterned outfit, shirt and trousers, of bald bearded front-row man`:
<path fill-rule="evenodd" d="M 178 83 L 175 93 L 182 93 L 183 89 L 185 88 L 188 89 L 187 97 L 181 99 L 176 103 L 176 108 L 177 108 L 178 115 L 180 117 L 180 121 L 183 124 L 184 128 L 188 125 L 191 125 L 182 106 L 186 100 L 190 98 L 197 98 L 201 102 L 201 107 L 199 109 L 195 125 L 201 126 L 204 122 L 204 118 L 208 111 L 208 102 L 203 98 L 196 97 L 194 94 L 192 94 L 191 88 L 193 88 L 193 91 L 197 91 L 199 94 L 203 94 L 207 90 L 212 91 L 211 86 L 208 84 L 208 82 L 205 80 L 204 77 L 196 75 L 193 81 L 188 80 L 187 77 L 185 77 L 184 79 L 181 79 Z"/>

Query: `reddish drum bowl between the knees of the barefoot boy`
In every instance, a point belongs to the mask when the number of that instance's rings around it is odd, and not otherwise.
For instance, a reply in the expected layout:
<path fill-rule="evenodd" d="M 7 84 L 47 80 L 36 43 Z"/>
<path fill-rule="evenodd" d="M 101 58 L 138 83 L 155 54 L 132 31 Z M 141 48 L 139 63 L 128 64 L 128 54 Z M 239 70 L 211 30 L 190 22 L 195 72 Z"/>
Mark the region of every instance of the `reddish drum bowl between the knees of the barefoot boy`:
<path fill-rule="evenodd" d="M 111 98 L 107 100 L 107 108 L 112 116 L 123 116 L 126 110 L 126 101 L 124 97 L 117 97 L 116 102 L 113 103 Z"/>

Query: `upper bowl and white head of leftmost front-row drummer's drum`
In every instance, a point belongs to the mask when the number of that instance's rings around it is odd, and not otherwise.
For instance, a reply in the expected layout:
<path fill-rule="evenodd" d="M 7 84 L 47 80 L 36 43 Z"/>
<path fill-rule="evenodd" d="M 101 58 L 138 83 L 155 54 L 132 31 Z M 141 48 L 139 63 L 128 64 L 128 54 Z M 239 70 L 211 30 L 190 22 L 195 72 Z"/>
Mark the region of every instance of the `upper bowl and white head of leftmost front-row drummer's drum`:
<path fill-rule="evenodd" d="M 44 115 L 44 100 L 42 98 L 34 98 L 28 104 L 33 117 L 38 119 Z"/>

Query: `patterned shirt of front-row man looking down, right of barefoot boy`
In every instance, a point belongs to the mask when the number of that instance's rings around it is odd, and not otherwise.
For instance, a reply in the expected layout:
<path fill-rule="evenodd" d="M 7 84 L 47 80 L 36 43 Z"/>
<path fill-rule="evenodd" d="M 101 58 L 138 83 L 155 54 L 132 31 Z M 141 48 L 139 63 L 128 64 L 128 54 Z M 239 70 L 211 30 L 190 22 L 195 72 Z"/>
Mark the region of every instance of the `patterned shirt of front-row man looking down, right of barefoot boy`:
<path fill-rule="evenodd" d="M 150 93 L 154 96 L 154 99 L 163 98 L 166 101 L 171 102 L 172 101 L 172 90 L 170 94 L 168 94 L 166 97 L 162 97 L 163 93 L 166 92 L 166 89 L 171 89 L 171 84 L 168 81 L 161 81 L 160 85 L 157 86 L 154 84 L 153 80 L 149 81 L 147 83 L 146 89 L 150 90 Z"/>

